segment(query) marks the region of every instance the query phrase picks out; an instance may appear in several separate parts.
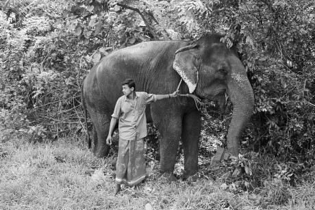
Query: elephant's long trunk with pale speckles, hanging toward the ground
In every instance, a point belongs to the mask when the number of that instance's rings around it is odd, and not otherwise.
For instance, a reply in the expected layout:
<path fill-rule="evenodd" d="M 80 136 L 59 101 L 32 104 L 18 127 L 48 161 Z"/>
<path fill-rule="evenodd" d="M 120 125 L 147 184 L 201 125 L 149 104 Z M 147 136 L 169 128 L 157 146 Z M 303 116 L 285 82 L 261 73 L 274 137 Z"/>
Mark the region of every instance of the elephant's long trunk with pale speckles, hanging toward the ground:
<path fill-rule="evenodd" d="M 228 94 L 233 103 L 233 115 L 227 134 L 227 149 L 231 155 L 238 156 L 240 137 L 253 114 L 254 96 L 245 73 L 232 73 L 228 84 Z"/>

